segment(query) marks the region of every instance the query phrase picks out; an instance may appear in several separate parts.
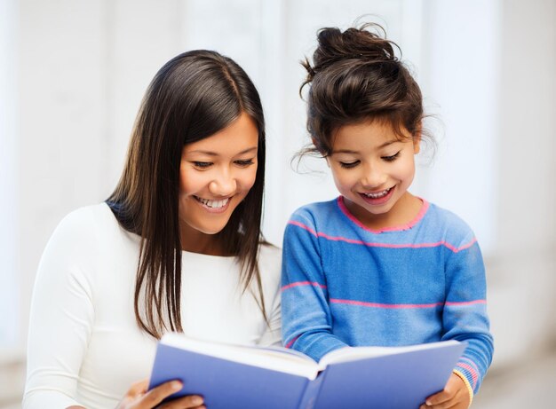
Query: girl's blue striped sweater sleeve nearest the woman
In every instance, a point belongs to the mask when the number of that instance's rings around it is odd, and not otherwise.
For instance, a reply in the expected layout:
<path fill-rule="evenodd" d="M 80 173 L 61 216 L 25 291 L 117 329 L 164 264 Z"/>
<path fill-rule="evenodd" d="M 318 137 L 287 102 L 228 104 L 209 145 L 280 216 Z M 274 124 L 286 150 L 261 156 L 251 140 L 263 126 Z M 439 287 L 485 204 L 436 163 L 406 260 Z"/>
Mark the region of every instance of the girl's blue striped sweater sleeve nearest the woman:
<path fill-rule="evenodd" d="M 346 347 L 332 334 L 326 277 L 313 224 L 292 216 L 284 233 L 282 253 L 282 341 L 318 361 L 331 350 Z"/>

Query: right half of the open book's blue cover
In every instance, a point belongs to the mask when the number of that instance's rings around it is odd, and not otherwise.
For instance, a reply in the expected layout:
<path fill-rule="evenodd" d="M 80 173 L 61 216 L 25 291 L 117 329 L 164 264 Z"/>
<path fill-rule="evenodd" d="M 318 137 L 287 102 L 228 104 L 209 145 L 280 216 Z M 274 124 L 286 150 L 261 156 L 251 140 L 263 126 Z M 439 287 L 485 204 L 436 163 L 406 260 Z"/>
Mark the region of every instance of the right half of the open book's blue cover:
<path fill-rule="evenodd" d="M 387 353 L 390 348 L 385 348 L 380 350 L 386 355 L 330 363 L 322 374 L 314 409 L 418 409 L 426 397 L 444 389 L 466 342 L 423 346 L 433 348 L 401 347 L 396 353 Z"/>

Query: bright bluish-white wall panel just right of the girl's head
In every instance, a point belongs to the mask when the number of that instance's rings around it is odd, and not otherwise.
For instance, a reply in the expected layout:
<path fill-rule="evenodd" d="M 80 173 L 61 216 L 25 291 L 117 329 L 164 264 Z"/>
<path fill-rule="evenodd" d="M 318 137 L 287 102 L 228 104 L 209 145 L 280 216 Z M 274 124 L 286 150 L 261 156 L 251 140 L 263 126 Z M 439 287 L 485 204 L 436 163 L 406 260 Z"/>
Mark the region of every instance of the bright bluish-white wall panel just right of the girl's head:
<path fill-rule="evenodd" d="M 502 2 L 426 2 L 423 92 L 438 151 L 420 170 L 425 198 L 471 224 L 496 251 L 498 75 Z M 473 23 L 471 23 L 473 21 Z"/>

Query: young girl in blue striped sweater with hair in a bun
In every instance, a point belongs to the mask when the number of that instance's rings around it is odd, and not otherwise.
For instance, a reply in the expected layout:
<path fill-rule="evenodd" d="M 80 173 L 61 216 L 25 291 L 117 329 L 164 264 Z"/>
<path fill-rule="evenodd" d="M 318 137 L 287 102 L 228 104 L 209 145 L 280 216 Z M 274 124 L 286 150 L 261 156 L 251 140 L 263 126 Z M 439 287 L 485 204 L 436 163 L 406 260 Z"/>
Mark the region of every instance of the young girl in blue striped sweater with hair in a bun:
<path fill-rule="evenodd" d="M 469 342 L 425 403 L 465 408 L 493 352 L 481 250 L 461 219 L 409 193 L 421 91 L 396 45 L 369 27 L 323 28 L 304 63 L 309 151 L 326 159 L 340 196 L 299 208 L 286 228 L 283 342 L 315 360 L 348 345 Z"/>

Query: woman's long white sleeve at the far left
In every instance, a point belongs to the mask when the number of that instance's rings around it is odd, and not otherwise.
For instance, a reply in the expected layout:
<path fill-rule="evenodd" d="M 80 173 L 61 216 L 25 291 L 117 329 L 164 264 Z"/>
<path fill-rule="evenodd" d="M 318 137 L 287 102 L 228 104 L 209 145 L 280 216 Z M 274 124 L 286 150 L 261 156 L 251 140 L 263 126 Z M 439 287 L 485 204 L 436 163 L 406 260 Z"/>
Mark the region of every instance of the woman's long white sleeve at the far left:
<path fill-rule="evenodd" d="M 90 271 L 96 251 L 93 224 L 83 223 L 83 216 L 75 212 L 60 223 L 39 263 L 29 319 L 25 409 L 80 405 L 75 396 L 93 323 Z"/>

